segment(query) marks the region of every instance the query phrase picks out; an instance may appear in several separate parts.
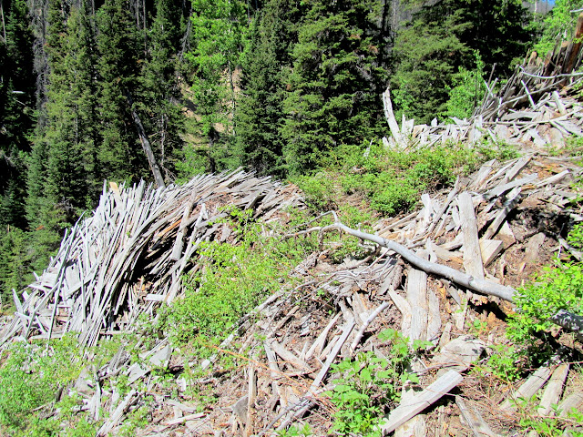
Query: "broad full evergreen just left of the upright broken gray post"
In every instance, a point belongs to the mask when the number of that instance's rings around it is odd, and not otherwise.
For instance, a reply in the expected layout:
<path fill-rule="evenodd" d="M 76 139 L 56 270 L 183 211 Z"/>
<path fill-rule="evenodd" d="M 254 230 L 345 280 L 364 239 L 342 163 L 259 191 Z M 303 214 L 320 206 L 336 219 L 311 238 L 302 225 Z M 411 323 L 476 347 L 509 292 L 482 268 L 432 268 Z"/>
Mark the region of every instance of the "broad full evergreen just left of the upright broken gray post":
<path fill-rule="evenodd" d="M 293 48 L 284 107 L 284 156 L 292 173 L 314 168 L 327 150 L 379 135 L 384 41 L 381 3 L 310 2 Z"/>

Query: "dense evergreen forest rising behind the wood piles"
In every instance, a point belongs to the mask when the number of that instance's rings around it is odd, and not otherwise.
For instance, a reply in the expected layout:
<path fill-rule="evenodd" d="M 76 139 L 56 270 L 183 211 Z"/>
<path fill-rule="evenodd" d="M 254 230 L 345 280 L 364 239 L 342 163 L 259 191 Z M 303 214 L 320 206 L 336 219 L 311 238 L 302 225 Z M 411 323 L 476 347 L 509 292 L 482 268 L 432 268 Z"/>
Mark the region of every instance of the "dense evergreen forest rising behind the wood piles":
<path fill-rule="evenodd" d="M 310 174 L 384 136 L 387 86 L 398 118 L 467 117 L 484 79 L 568 37 L 577 3 L 1 0 L 2 302 L 104 180 Z"/>

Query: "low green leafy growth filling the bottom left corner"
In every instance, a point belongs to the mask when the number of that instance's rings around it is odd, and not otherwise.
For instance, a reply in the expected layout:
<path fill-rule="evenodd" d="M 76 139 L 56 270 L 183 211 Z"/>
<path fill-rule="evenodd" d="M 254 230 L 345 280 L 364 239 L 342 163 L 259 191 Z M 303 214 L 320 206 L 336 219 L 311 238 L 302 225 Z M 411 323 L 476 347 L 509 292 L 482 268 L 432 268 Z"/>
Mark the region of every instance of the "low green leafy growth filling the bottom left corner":
<path fill-rule="evenodd" d="M 97 423 L 78 412 L 82 403 L 79 396 L 65 390 L 56 402 L 56 394 L 75 381 L 87 366 L 101 367 L 118 348 L 118 340 L 103 340 L 95 351 L 86 351 L 91 357 L 87 360 L 73 335 L 48 342 L 12 345 L 0 357 L 0 435 L 95 435 Z M 59 414 L 43 417 L 46 409 L 42 407 L 53 403 Z M 70 426 L 63 428 L 63 421 Z"/>

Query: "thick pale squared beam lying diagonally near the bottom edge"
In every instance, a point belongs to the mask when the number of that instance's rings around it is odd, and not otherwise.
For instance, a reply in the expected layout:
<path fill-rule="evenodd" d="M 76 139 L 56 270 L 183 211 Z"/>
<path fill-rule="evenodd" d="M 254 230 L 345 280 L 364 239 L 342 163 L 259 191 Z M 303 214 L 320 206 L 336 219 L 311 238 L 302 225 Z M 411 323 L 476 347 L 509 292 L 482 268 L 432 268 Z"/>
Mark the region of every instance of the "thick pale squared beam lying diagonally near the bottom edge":
<path fill-rule="evenodd" d="M 424 391 L 414 396 L 406 404 L 399 405 L 390 414 L 389 417 L 381 422 L 380 431 L 382 435 L 393 432 L 398 426 L 407 422 L 425 408 L 433 405 L 435 401 L 441 399 L 461 381 L 464 381 L 462 375 L 456 371 L 448 371 L 442 377 L 438 378 L 433 384 L 429 385 Z"/>

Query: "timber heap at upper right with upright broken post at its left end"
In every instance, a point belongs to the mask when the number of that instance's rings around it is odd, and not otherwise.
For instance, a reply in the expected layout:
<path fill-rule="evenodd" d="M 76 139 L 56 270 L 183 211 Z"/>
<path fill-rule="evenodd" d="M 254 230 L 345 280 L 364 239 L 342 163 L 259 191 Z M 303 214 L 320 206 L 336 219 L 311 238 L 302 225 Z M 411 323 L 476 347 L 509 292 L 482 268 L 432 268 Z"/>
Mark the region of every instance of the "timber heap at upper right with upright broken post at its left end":
<path fill-rule="evenodd" d="M 497 79 L 485 83 L 484 101 L 469 120 L 451 117 L 453 123 L 438 123 L 435 118 L 427 126 L 415 125 L 414 119 L 403 116 L 399 127 L 387 89 L 383 104 L 391 136 L 383 138 L 384 145 L 431 147 L 447 141 L 474 144 L 486 139 L 542 150 L 564 147 L 571 136 L 583 137 L 583 108 L 568 96 L 583 80 L 583 73 L 577 72 L 583 58 L 582 36 L 583 14 L 570 43 L 557 43 L 544 60 L 533 52 L 497 92 Z"/>

